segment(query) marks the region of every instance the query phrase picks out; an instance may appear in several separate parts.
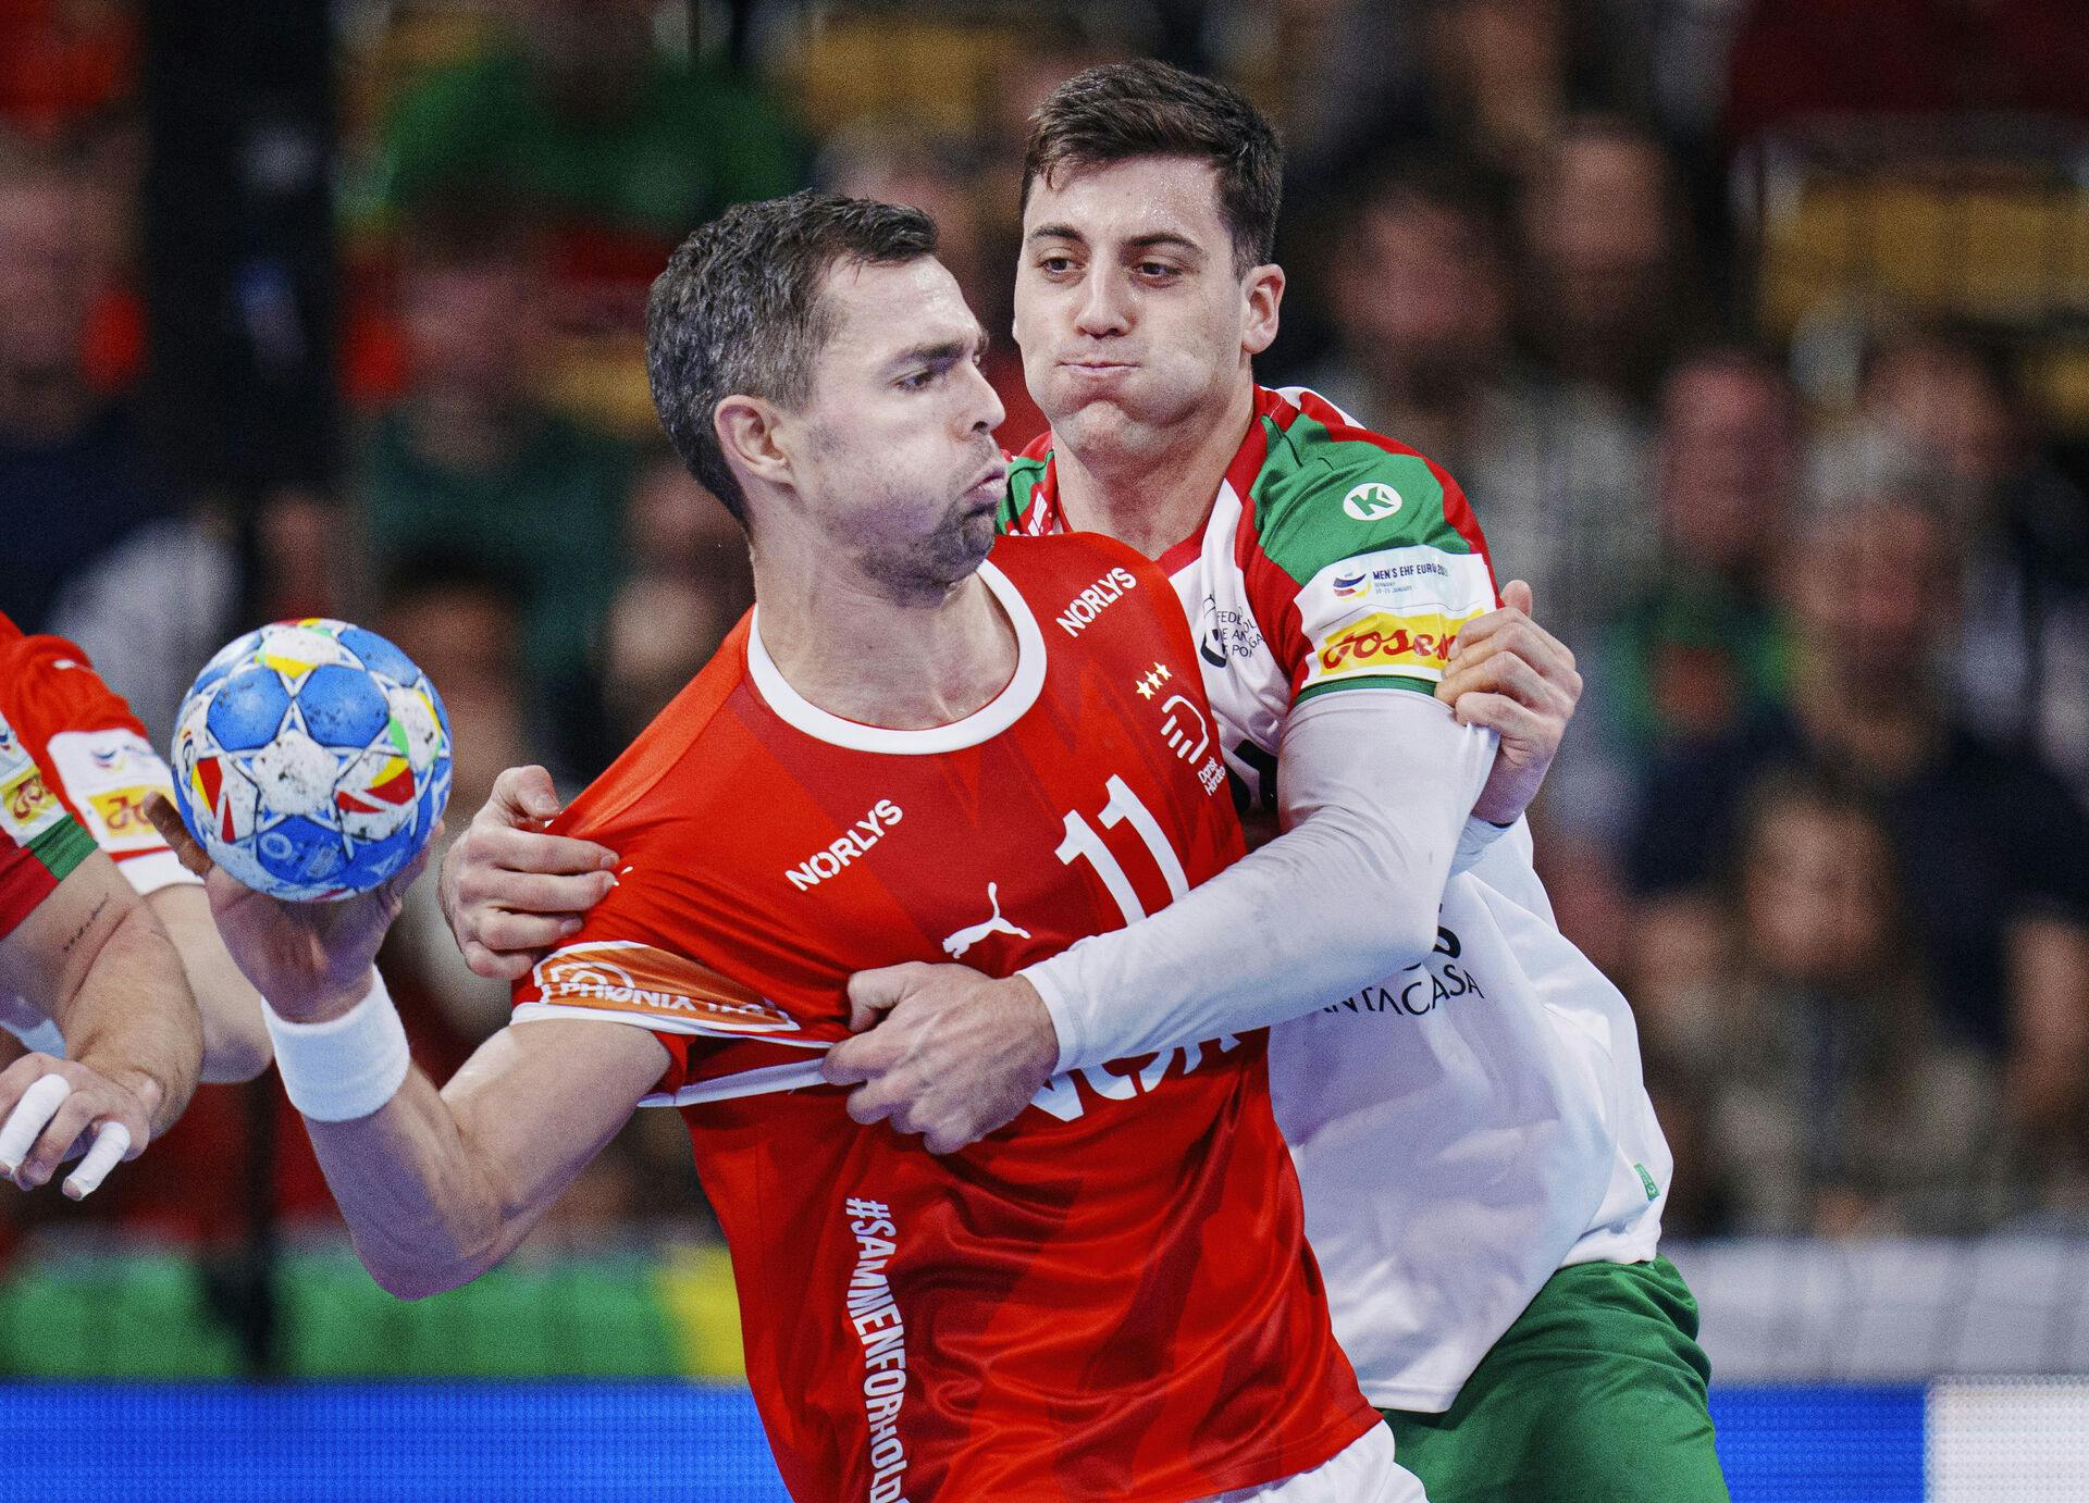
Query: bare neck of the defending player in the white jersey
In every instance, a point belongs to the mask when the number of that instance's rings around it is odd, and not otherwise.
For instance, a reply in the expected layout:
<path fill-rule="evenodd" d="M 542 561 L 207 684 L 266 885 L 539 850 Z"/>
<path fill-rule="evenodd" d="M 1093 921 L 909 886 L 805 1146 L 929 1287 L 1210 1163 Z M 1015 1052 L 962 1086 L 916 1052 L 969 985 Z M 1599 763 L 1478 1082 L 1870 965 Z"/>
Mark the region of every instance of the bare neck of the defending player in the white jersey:
<path fill-rule="evenodd" d="M 1067 528 L 1103 532 L 1159 557 L 1212 514 L 1212 499 L 1253 415 L 1255 386 L 1243 374 L 1210 422 L 1170 432 L 1151 449 L 1074 447 L 1055 436 L 1059 505 Z"/>

